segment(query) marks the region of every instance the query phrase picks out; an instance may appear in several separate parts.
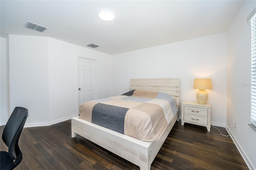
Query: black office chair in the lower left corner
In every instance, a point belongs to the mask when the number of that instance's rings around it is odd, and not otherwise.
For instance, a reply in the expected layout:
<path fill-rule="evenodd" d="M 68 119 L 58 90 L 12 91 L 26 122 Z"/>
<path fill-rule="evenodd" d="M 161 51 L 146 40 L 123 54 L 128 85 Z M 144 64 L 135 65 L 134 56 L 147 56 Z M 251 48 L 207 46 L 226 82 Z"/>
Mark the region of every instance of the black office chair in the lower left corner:
<path fill-rule="evenodd" d="M 0 152 L 1 170 L 13 170 L 22 160 L 22 153 L 18 142 L 27 117 L 28 109 L 15 107 L 4 127 L 2 139 L 6 146 L 8 146 L 8 152 Z"/>

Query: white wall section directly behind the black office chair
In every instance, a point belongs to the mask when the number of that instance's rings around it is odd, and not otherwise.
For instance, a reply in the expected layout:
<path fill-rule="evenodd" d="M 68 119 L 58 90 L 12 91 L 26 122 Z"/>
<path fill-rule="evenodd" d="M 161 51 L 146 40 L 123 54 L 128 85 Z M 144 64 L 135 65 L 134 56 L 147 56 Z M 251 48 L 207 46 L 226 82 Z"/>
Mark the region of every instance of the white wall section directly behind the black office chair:
<path fill-rule="evenodd" d="M 9 59 L 10 110 L 26 107 L 26 124 L 48 122 L 48 38 L 9 35 Z"/>

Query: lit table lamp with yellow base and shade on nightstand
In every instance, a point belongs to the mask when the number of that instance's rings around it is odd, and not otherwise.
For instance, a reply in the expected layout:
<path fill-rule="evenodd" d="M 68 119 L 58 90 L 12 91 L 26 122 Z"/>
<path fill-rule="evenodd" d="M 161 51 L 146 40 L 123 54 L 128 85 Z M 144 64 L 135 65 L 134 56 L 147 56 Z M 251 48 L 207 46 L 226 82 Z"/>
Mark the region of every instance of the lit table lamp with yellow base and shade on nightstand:
<path fill-rule="evenodd" d="M 205 104 L 208 99 L 206 89 L 212 89 L 212 79 L 194 79 L 194 89 L 199 89 L 196 99 L 199 104 Z"/>

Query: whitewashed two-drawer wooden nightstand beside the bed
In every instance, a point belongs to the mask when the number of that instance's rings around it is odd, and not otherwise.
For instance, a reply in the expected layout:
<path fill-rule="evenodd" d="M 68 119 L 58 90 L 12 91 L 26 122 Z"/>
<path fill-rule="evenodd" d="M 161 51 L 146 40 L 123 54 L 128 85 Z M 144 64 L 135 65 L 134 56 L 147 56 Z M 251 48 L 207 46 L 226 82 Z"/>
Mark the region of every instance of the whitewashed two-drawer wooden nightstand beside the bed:
<path fill-rule="evenodd" d="M 204 126 L 210 132 L 211 105 L 183 101 L 181 105 L 181 125 L 183 126 L 184 123 Z"/>

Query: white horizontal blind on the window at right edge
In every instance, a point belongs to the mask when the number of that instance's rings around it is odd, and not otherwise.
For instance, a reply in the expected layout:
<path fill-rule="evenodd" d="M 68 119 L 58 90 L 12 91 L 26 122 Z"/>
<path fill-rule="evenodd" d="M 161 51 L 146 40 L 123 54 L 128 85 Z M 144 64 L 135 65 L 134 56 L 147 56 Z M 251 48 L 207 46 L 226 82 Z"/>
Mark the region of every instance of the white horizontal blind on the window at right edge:
<path fill-rule="evenodd" d="M 251 80 L 251 123 L 256 127 L 256 14 L 250 19 L 252 26 L 252 80 Z"/>

